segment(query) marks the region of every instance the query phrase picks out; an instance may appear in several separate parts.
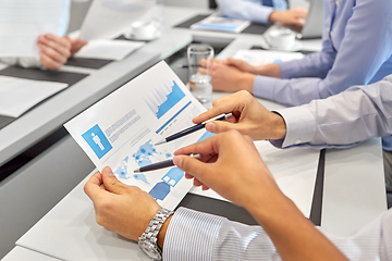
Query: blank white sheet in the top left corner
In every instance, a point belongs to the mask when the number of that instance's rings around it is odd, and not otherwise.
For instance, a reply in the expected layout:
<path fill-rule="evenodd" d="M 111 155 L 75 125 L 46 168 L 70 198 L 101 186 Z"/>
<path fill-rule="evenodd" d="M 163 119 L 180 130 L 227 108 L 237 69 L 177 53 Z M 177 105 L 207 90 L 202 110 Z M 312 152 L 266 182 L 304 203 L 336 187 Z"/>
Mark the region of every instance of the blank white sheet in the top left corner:
<path fill-rule="evenodd" d="M 56 34 L 63 0 L 0 0 L 0 57 L 38 55 L 39 35 Z"/>

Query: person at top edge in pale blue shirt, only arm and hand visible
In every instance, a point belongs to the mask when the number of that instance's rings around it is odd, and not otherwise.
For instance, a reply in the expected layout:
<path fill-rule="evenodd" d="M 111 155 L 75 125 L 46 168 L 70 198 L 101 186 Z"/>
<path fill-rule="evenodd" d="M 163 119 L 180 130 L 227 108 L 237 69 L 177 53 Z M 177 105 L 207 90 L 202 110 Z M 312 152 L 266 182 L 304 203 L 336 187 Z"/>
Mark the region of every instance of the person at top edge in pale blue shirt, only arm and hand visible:
<path fill-rule="evenodd" d="M 308 13 L 303 8 L 286 10 L 285 0 L 218 0 L 217 4 L 223 15 L 232 18 L 294 27 L 302 27 Z"/>

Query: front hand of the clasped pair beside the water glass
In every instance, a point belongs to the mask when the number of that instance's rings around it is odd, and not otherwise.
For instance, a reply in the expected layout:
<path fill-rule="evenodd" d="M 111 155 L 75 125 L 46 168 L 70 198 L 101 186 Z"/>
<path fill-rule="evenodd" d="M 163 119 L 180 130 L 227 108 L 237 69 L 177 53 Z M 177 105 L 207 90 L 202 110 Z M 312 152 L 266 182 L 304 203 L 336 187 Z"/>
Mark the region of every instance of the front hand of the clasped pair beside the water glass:
<path fill-rule="evenodd" d="M 226 65 L 223 61 L 210 60 L 208 61 L 208 72 L 200 67 L 201 74 L 209 74 L 212 77 L 212 88 L 222 91 L 237 91 L 245 89 L 253 91 L 253 84 L 256 75 L 242 72 L 234 66 Z M 201 66 L 207 65 L 207 61 L 200 62 Z"/>

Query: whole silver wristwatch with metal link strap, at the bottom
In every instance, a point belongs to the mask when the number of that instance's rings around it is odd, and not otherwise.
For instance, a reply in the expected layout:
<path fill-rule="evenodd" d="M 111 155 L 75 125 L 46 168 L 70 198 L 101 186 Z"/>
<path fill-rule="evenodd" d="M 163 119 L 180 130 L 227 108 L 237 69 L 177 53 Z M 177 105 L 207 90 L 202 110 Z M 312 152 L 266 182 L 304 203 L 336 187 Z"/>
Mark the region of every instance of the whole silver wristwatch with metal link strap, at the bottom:
<path fill-rule="evenodd" d="M 164 221 L 172 214 L 174 212 L 171 210 L 160 209 L 148 224 L 145 233 L 138 238 L 139 247 L 152 260 L 162 260 L 162 250 L 157 244 L 157 236 Z"/>

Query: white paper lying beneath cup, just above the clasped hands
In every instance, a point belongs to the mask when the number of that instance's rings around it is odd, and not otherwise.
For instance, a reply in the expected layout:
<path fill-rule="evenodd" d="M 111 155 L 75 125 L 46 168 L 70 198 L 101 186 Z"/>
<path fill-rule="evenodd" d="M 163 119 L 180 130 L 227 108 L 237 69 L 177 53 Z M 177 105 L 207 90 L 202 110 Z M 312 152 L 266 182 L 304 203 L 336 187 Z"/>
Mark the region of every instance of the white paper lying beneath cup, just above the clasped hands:
<path fill-rule="evenodd" d="M 304 54 L 299 52 L 243 49 L 243 50 L 238 50 L 233 58 L 243 60 L 254 66 L 260 66 L 269 63 L 281 63 L 281 62 L 303 59 Z"/>

